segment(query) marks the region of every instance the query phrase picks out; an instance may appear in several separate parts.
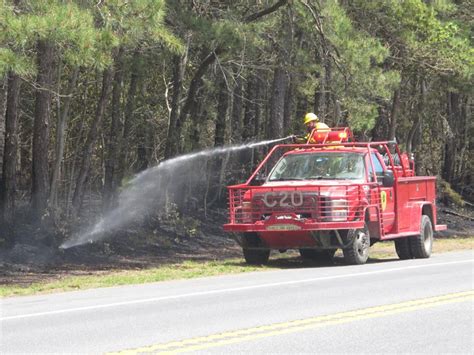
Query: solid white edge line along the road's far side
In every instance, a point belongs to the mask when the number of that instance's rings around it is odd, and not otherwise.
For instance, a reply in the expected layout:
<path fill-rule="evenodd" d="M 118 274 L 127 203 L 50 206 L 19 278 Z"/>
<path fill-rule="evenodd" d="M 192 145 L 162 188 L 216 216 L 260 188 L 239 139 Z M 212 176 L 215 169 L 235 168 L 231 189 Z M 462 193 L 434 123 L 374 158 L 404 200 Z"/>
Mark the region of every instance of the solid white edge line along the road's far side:
<path fill-rule="evenodd" d="M 175 299 L 187 298 L 187 297 L 207 296 L 207 295 L 213 295 L 213 294 L 245 291 L 245 290 L 267 288 L 267 287 L 295 285 L 295 284 L 300 284 L 300 283 L 310 283 L 310 282 L 316 282 L 316 281 L 342 279 L 342 278 L 347 278 L 347 277 L 358 277 L 358 276 L 366 276 L 366 275 L 374 275 L 374 274 L 383 274 L 383 273 L 394 272 L 394 271 L 403 271 L 403 270 L 409 270 L 409 269 L 427 268 L 427 267 L 432 267 L 432 266 L 466 264 L 466 263 L 472 263 L 472 262 L 474 262 L 474 259 L 449 261 L 449 262 L 444 262 L 444 263 L 433 263 L 433 264 L 425 264 L 425 265 L 412 265 L 412 266 L 398 267 L 398 268 L 393 268 L 393 269 L 366 271 L 366 272 L 358 272 L 358 273 L 345 274 L 345 275 L 324 276 L 324 277 L 316 277 L 316 278 L 312 278 L 312 279 L 303 279 L 303 280 L 294 280 L 294 281 L 273 282 L 273 283 L 267 283 L 267 284 L 242 286 L 242 287 L 235 287 L 235 288 L 224 288 L 224 289 L 218 289 L 218 290 L 184 293 L 184 294 L 181 294 L 181 295 L 144 298 L 144 299 L 133 300 L 133 301 L 123 301 L 123 302 L 115 302 L 115 303 L 108 303 L 108 304 L 99 304 L 99 305 L 94 305 L 94 306 L 68 308 L 68 309 L 61 309 L 61 310 L 57 310 L 57 311 L 20 314 L 20 315 L 16 315 L 16 316 L 1 317 L 0 321 L 22 319 L 22 318 L 33 318 L 33 317 L 56 315 L 56 314 L 62 314 L 62 313 L 70 313 L 70 312 L 89 311 L 89 310 L 94 310 L 94 309 L 127 306 L 127 305 L 132 305 L 132 304 L 140 304 L 140 303 L 148 303 L 148 302 L 175 300 Z"/>

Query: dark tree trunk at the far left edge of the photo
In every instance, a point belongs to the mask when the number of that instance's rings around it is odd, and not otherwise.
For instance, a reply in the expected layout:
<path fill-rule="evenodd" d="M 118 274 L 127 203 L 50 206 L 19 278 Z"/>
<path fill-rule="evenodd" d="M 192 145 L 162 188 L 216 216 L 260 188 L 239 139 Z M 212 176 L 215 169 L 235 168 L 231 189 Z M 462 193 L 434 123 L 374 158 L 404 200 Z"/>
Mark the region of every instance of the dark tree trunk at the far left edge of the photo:
<path fill-rule="evenodd" d="M 5 113 L 5 145 L 0 179 L 0 220 L 9 224 L 15 213 L 16 161 L 18 150 L 18 102 L 20 78 L 8 75 L 7 110 Z"/>

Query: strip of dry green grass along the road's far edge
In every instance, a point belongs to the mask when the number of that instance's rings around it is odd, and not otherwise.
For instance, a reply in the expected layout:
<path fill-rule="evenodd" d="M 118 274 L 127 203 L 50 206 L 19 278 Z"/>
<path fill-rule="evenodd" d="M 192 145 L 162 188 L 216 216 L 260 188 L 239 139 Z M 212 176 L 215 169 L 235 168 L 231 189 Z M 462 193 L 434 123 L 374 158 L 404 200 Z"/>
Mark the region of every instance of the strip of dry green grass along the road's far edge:
<path fill-rule="evenodd" d="M 443 238 L 435 240 L 433 252 L 443 253 L 469 249 L 474 249 L 474 237 Z M 336 256 L 338 255 L 341 255 L 340 251 L 336 254 Z M 373 245 L 370 257 L 373 261 L 396 259 L 397 255 L 393 242 Z M 142 270 L 108 271 L 83 276 L 62 276 L 58 280 L 36 282 L 26 286 L 15 283 L 2 285 L 0 286 L 0 297 L 314 266 L 317 266 L 317 264 L 311 261 L 303 261 L 298 257 L 297 252 L 272 255 L 270 262 L 265 266 L 246 265 L 240 258 L 215 261 L 185 261 Z"/>

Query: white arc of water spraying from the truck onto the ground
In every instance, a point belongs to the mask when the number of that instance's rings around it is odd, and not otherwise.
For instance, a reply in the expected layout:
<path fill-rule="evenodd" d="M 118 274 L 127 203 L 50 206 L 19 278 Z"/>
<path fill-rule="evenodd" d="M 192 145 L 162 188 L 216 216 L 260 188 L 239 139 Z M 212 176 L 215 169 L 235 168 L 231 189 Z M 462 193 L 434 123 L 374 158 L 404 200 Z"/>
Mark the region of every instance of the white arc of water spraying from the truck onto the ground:
<path fill-rule="evenodd" d="M 251 142 L 241 145 L 206 149 L 164 160 L 160 164 L 136 175 L 128 183 L 128 186 L 119 195 L 117 208 L 106 213 L 98 223 L 88 230 L 72 236 L 61 244 L 59 248 L 68 249 L 86 243 L 94 243 L 100 240 L 105 232 L 117 230 L 130 223 L 135 218 L 144 215 L 153 203 L 156 203 L 159 198 L 163 197 L 160 186 L 166 182 L 166 179 L 169 178 L 170 174 L 178 168 L 186 167 L 186 164 L 191 163 L 198 158 L 209 158 L 219 154 L 252 149 L 259 146 L 283 142 L 291 138 L 293 138 L 293 136 L 262 142 Z"/>

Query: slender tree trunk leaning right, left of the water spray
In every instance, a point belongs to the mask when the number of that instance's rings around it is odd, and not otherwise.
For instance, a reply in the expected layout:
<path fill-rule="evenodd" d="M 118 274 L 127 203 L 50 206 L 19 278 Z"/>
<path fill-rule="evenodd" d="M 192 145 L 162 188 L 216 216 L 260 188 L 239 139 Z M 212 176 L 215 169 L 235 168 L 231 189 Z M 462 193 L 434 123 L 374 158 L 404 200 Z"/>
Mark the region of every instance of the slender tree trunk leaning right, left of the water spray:
<path fill-rule="evenodd" d="M 112 70 L 110 68 L 104 70 L 102 78 L 102 90 L 100 98 L 97 103 L 94 120 L 92 121 L 89 134 L 87 136 L 86 143 L 82 150 L 81 165 L 79 169 L 79 175 L 76 180 L 76 189 L 74 190 L 74 196 L 72 198 L 73 214 L 77 215 L 81 209 L 82 201 L 84 199 L 85 185 L 87 177 L 89 176 L 90 165 L 94 146 L 97 141 L 99 127 L 104 117 L 105 108 L 107 105 L 107 99 L 112 84 Z"/>

